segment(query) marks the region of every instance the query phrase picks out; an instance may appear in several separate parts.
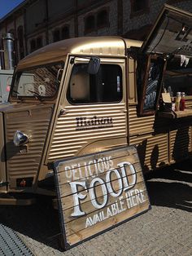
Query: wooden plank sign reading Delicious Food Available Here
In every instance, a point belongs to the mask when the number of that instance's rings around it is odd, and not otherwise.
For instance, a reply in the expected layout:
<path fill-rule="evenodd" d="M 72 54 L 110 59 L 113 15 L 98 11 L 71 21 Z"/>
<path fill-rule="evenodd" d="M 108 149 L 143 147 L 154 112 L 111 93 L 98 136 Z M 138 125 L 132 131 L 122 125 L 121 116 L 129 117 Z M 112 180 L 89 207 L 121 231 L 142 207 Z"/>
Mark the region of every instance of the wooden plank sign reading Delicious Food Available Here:
<path fill-rule="evenodd" d="M 151 209 L 135 147 L 55 162 L 63 249 Z"/>

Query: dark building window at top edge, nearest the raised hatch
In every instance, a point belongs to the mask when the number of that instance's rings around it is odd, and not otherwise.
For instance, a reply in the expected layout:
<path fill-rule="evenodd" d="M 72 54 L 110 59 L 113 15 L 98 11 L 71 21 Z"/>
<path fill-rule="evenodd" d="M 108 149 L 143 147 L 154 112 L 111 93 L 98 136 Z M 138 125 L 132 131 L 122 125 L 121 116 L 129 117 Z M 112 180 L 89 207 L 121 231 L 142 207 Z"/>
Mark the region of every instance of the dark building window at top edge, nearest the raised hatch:
<path fill-rule="evenodd" d="M 149 0 L 131 0 L 131 15 L 132 18 L 135 15 L 142 15 L 149 11 Z"/>

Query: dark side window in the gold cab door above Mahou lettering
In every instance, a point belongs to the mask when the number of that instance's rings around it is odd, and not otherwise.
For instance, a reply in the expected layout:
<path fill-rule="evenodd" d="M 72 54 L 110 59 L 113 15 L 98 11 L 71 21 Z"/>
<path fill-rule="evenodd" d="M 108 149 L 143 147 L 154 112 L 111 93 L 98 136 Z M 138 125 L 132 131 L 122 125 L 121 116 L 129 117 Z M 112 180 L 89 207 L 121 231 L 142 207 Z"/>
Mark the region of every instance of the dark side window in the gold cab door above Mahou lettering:
<path fill-rule="evenodd" d="M 116 64 L 101 64 L 96 75 L 87 73 L 88 64 L 74 64 L 68 86 L 72 104 L 114 103 L 122 99 L 122 69 Z"/>

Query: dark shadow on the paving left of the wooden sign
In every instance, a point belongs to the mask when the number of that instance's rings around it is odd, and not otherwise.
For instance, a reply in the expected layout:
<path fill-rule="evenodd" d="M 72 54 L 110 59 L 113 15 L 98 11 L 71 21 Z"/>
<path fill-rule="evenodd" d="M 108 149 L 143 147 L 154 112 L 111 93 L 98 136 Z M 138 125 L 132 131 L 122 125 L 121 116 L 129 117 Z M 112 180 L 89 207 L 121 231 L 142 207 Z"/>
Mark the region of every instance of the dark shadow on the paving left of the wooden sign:
<path fill-rule="evenodd" d="M 54 249 L 59 249 L 59 214 L 53 209 L 50 198 L 37 197 L 30 206 L 2 206 L 0 222 Z"/>

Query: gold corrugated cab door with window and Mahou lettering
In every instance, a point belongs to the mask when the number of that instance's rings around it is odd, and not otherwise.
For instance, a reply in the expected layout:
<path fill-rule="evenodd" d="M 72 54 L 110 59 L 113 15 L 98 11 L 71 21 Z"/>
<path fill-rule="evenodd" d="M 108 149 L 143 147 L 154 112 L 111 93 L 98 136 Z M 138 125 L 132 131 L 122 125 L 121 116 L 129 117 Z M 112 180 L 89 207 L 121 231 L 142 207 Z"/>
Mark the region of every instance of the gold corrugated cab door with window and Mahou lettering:
<path fill-rule="evenodd" d="M 97 74 L 89 60 L 71 57 L 48 161 L 127 144 L 125 60 L 102 59 Z"/>

